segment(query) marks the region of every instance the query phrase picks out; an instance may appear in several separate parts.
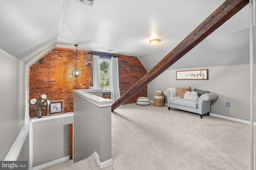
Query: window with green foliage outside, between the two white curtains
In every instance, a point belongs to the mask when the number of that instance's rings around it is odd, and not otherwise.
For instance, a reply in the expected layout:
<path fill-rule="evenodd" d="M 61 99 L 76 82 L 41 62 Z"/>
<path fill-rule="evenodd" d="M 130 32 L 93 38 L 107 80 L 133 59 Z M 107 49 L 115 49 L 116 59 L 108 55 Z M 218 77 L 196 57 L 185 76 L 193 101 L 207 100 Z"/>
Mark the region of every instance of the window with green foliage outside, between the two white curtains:
<path fill-rule="evenodd" d="M 100 88 L 103 91 L 110 91 L 110 60 L 100 58 Z"/>

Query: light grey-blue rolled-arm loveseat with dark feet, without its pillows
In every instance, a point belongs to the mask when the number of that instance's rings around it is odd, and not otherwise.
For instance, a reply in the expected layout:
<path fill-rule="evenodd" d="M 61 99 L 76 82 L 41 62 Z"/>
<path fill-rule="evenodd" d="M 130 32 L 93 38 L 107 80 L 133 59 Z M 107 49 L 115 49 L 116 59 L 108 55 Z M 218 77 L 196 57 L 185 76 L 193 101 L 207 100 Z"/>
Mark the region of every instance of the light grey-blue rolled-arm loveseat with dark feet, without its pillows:
<path fill-rule="evenodd" d="M 198 98 L 198 101 L 187 100 L 183 98 L 176 97 L 176 88 L 169 88 L 164 91 L 164 95 L 167 97 L 168 109 L 180 109 L 184 111 L 189 111 L 192 113 L 198 113 L 202 119 L 202 115 L 207 113 L 209 116 L 211 110 L 211 101 L 217 99 L 216 93 L 206 93 Z"/>

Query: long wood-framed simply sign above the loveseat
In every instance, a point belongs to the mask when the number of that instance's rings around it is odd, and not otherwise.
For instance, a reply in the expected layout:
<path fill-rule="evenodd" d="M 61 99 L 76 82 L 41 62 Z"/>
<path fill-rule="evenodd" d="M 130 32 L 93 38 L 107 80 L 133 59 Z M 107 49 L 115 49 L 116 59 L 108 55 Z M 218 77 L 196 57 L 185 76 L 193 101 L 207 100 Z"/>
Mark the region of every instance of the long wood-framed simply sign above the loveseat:
<path fill-rule="evenodd" d="M 208 79 L 208 69 L 176 71 L 177 80 L 206 80 Z"/>

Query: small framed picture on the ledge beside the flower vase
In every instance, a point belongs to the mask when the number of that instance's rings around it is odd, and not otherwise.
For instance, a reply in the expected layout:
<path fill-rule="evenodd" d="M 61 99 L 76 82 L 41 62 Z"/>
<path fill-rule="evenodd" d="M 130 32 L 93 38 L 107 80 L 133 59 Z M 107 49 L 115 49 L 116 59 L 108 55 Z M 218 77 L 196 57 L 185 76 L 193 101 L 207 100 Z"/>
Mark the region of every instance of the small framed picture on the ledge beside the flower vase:
<path fill-rule="evenodd" d="M 59 115 L 64 113 L 64 100 L 50 101 L 47 106 L 47 116 Z"/>

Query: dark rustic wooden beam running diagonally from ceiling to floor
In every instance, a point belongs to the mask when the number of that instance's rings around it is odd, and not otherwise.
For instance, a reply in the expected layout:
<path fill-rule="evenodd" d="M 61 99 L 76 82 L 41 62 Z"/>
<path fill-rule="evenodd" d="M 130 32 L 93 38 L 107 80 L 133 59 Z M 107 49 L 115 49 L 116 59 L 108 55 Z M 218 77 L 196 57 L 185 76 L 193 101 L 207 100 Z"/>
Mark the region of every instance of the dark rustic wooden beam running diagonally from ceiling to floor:
<path fill-rule="evenodd" d="M 114 111 L 117 107 L 138 93 L 138 91 L 140 91 L 158 75 L 168 69 L 172 64 L 178 61 L 178 59 L 188 53 L 188 51 L 190 51 L 208 35 L 214 32 L 214 30 L 219 28 L 222 24 L 224 24 L 224 22 L 234 16 L 248 3 L 249 0 L 226 0 L 182 42 L 180 42 L 172 51 L 170 51 L 170 53 L 168 53 L 158 64 L 156 64 L 146 75 L 144 75 L 144 77 L 142 77 L 116 102 L 114 102 L 111 110 Z"/>

